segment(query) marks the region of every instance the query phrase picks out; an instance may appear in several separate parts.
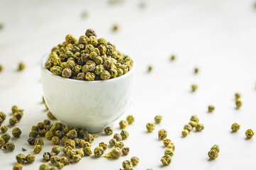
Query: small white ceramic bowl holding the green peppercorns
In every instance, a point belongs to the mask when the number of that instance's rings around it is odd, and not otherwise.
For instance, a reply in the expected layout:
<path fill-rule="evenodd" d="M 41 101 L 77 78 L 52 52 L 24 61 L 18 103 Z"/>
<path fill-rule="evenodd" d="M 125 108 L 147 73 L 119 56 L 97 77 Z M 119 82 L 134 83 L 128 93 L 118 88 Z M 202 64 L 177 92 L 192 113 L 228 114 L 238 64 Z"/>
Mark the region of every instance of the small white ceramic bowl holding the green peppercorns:
<path fill-rule="evenodd" d="M 132 100 L 134 69 L 105 81 L 80 81 L 52 74 L 41 62 L 43 96 L 49 111 L 66 125 L 102 132 L 127 110 Z"/>

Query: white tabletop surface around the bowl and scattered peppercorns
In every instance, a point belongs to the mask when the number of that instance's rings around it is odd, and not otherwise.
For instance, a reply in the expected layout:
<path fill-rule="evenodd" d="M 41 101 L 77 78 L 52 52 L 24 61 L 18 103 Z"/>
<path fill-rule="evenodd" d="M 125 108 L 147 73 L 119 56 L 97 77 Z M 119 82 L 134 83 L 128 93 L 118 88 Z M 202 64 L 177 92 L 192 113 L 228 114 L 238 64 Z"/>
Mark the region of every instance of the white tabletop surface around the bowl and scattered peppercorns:
<path fill-rule="evenodd" d="M 134 99 L 128 114 L 135 117 L 127 130 L 130 136 L 124 144 L 129 155 L 120 159 L 84 157 L 78 164 L 66 169 L 119 169 L 122 162 L 137 156 L 134 169 L 255 169 L 256 143 L 253 137 L 245 140 L 245 130 L 256 131 L 256 8 L 254 0 L 160 0 L 125 1 L 109 5 L 107 1 L 0 1 L 0 111 L 11 118 L 11 106 L 23 108 L 24 116 L 16 126 L 23 131 L 14 152 L 0 150 L 0 169 L 12 169 L 16 154 L 29 154 L 28 132 L 32 125 L 46 119 L 41 104 L 43 95 L 39 62 L 51 47 L 65 40 L 65 35 L 78 38 L 87 28 L 93 28 L 98 37 L 113 42 L 137 62 Z M 81 18 L 82 11 L 88 12 Z M 112 33 L 112 26 L 120 27 Z M 170 62 L 175 54 L 177 60 Z M 26 70 L 16 72 L 19 61 Z M 153 66 L 150 74 L 148 65 Z M 193 74 L 194 67 L 199 73 Z M 191 84 L 198 90 L 191 93 Z M 242 107 L 235 109 L 234 94 L 242 94 Z M 215 111 L 207 113 L 208 105 Z M 146 123 L 162 115 L 163 121 L 154 132 L 146 132 Z M 181 137 L 183 125 L 191 115 L 198 115 L 205 129 Z M 114 132 L 120 132 L 118 122 Z M 232 123 L 239 123 L 238 132 L 231 133 Z M 176 145 L 169 166 L 162 166 L 164 154 L 157 132 L 164 128 Z M 9 129 L 11 133 L 12 128 Z M 108 142 L 112 136 L 99 134 L 92 148 L 99 142 Z M 23 169 L 38 169 L 43 152 L 52 145 L 46 141 L 43 151 L 36 154 L 36 162 Z M 217 159 L 208 160 L 212 145 L 220 145 Z M 21 151 L 21 147 L 28 149 Z M 110 149 L 107 150 L 109 152 Z"/>

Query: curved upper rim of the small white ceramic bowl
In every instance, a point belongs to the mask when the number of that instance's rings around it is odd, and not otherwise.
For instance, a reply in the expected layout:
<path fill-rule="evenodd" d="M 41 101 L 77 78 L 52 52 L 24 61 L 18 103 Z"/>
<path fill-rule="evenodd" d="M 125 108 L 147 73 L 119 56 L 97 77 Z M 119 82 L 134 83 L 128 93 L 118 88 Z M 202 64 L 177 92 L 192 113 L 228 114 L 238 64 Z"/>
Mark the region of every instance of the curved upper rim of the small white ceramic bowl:
<path fill-rule="evenodd" d="M 135 70 L 135 62 L 132 64 L 132 69 L 130 69 L 126 74 L 123 74 L 120 77 L 116 77 L 114 79 L 107 79 L 107 80 L 97 80 L 97 81 L 85 81 L 85 80 L 77 80 L 77 79 L 67 79 L 64 77 L 60 77 L 57 76 L 55 74 L 53 74 L 52 72 L 50 72 L 48 69 L 45 68 L 45 64 L 48 60 L 48 58 L 50 57 L 50 54 L 46 54 L 43 55 L 43 57 L 41 58 L 41 72 L 44 72 L 46 74 L 48 74 L 50 77 L 52 77 L 53 79 L 58 79 L 60 81 L 66 81 L 66 82 L 73 82 L 73 83 L 78 83 L 78 84 L 99 84 L 99 83 L 107 83 L 107 82 L 113 82 L 113 81 L 119 81 L 121 79 L 125 79 L 125 77 L 128 77 L 129 74 L 132 74 Z"/>

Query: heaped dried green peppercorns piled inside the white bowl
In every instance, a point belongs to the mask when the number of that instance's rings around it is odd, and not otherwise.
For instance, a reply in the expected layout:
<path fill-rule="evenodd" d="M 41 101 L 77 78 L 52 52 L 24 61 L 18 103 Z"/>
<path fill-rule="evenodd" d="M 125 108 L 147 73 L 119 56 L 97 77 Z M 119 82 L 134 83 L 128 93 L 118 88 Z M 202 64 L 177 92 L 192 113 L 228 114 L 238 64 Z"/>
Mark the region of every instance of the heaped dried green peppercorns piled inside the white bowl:
<path fill-rule="evenodd" d="M 45 67 L 64 78 L 95 81 L 120 77 L 132 69 L 132 64 L 128 55 L 88 29 L 79 40 L 67 35 L 65 42 L 53 47 Z"/>

